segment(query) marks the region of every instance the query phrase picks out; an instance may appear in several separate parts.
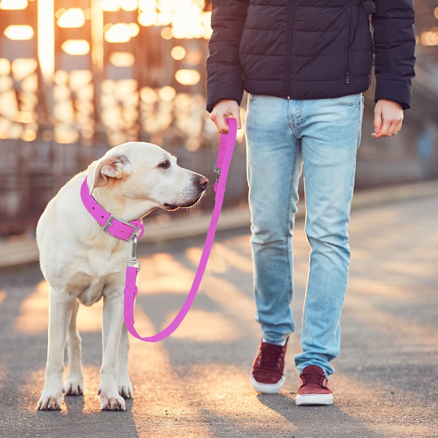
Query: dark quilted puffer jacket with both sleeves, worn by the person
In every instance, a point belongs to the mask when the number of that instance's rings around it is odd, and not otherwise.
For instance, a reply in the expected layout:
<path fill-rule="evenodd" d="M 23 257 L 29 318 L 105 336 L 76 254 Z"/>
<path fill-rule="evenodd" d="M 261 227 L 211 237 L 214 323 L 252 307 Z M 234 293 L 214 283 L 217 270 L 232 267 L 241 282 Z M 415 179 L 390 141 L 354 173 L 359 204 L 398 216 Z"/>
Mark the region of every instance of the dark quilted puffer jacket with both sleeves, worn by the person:
<path fill-rule="evenodd" d="M 362 0 L 212 0 L 207 110 L 243 91 L 291 99 L 340 97 L 370 85 L 375 101 L 409 108 L 412 0 L 375 0 L 374 45 Z"/>

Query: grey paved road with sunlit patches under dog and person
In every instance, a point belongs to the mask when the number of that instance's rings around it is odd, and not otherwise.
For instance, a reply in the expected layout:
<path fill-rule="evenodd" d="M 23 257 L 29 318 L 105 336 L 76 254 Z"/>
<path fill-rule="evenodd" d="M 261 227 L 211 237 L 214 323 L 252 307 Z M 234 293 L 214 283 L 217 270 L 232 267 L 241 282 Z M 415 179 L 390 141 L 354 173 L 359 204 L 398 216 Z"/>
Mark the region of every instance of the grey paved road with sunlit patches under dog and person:
<path fill-rule="evenodd" d="M 260 332 L 253 321 L 246 229 L 217 235 L 207 273 L 182 326 L 147 344 L 131 337 L 134 399 L 101 412 L 102 303 L 79 310 L 85 394 L 62 411 L 37 412 L 47 349 L 47 284 L 35 268 L 0 274 L 0 436 L 432 437 L 438 436 L 438 197 L 356 210 L 331 379 L 335 404 L 297 407 L 294 395 L 308 266 L 303 222 L 295 233 L 297 333 L 277 395 L 255 393 L 248 374 Z M 190 288 L 203 238 L 151 244 L 143 254 L 136 328 L 167 324 Z"/>

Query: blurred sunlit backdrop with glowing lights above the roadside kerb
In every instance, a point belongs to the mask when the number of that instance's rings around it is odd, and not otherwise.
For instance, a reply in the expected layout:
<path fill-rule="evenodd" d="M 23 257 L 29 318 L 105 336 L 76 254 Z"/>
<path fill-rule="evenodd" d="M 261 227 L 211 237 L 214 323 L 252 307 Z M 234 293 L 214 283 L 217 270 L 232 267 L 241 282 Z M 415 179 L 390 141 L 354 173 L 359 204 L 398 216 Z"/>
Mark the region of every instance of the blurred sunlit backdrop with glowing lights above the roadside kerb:
<path fill-rule="evenodd" d="M 365 94 L 358 190 L 438 178 L 438 3 L 414 5 L 412 107 L 399 135 L 376 141 L 373 87 Z M 210 0 L 0 1 L 0 236 L 33 233 L 59 188 L 127 141 L 156 143 L 214 180 L 210 18 Z M 227 207 L 245 206 L 243 130 L 228 181 Z M 195 211 L 213 202 L 209 187 Z"/>

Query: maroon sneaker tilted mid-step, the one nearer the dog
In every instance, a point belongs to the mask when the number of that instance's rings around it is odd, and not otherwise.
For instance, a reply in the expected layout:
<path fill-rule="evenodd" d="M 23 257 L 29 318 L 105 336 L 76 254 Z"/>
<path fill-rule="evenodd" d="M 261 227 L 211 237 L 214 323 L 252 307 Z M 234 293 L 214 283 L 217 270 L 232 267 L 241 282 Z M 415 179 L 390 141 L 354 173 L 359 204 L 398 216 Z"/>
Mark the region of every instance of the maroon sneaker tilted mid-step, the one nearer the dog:
<path fill-rule="evenodd" d="M 251 370 L 251 383 L 257 392 L 275 394 L 282 389 L 288 341 L 289 338 L 284 346 L 261 341 Z"/>

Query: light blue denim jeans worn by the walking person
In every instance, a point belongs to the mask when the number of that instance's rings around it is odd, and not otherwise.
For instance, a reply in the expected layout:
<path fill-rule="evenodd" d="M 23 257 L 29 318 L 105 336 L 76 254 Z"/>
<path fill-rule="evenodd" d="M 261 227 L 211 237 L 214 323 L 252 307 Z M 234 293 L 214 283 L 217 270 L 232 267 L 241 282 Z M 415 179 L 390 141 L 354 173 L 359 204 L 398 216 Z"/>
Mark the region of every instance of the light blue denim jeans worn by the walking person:
<path fill-rule="evenodd" d="M 250 95 L 246 115 L 247 175 L 251 210 L 255 319 L 267 342 L 294 331 L 292 236 L 298 180 L 304 171 L 305 231 L 311 247 L 301 334 L 301 370 L 321 367 L 339 354 L 340 318 L 347 288 L 347 228 L 362 94 L 294 101 Z"/>

